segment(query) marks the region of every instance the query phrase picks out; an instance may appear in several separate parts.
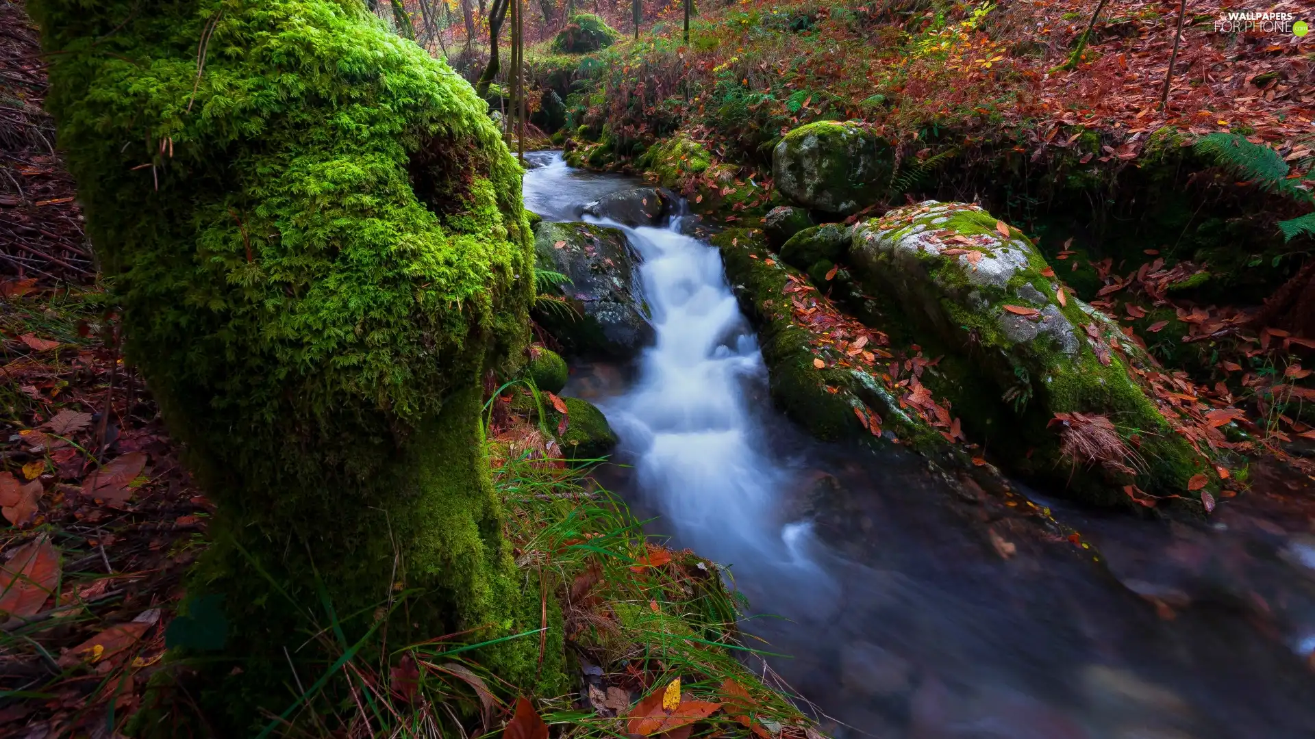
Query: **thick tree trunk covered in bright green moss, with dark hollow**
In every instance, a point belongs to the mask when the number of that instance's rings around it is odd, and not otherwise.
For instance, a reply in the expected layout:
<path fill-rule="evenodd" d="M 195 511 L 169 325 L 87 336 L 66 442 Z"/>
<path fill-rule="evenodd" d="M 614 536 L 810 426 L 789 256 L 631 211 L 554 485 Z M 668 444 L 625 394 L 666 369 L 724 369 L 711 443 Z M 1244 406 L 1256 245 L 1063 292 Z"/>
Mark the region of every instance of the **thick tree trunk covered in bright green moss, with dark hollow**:
<path fill-rule="evenodd" d="M 350 0 L 30 8 L 125 352 L 218 504 L 191 589 L 224 596 L 242 671 L 212 705 L 284 709 L 284 647 L 314 660 L 334 619 L 355 640 L 392 613 L 394 646 L 538 630 L 479 425 L 533 295 L 484 103 Z M 552 682 L 560 635 L 543 665 L 537 635 L 480 659 Z"/>

